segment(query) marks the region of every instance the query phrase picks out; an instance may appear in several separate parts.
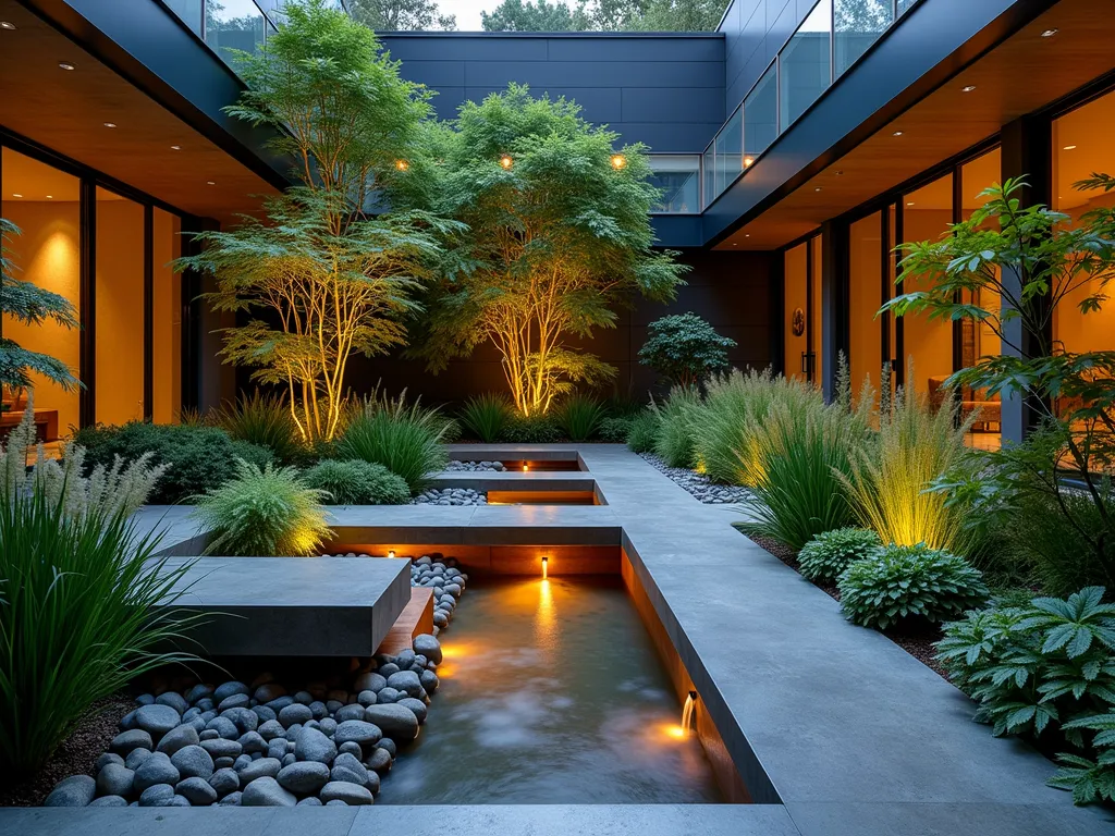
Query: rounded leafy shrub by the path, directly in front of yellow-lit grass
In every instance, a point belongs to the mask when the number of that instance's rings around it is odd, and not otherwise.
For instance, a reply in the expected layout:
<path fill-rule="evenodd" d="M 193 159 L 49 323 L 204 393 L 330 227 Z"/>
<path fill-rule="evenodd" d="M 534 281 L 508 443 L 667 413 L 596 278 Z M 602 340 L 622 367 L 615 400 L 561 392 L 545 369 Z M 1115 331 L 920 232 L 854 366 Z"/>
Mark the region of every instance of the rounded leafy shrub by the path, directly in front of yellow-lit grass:
<path fill-rule="evenodd" d="M 924 543 L 880 548 L 849 564 L 837 585 L 849 621 L 878 630 L 954 619 L 990 595 L 979 570 Z"/>

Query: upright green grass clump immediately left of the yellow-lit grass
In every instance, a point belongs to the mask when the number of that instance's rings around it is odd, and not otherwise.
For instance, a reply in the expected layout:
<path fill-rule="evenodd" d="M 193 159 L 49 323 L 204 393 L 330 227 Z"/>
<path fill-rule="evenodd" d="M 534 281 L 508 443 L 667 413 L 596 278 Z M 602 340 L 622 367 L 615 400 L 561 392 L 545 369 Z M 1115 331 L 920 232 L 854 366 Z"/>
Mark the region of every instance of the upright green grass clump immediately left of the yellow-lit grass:
<path fill-rule="evenodd" d="M 844 375 L 832 404 L 793 390 L 776 397 L 765 415 L 752 416 L 744 430 L 752 443 L 738 454 L 741 480 L 750 487 L 744 500 L 750 519 L 738 527 L 801 551 L 814 535 L 854 525 L 841 475 L 852 472 L 870 410 L 866 398 L 851 409 Z"/>

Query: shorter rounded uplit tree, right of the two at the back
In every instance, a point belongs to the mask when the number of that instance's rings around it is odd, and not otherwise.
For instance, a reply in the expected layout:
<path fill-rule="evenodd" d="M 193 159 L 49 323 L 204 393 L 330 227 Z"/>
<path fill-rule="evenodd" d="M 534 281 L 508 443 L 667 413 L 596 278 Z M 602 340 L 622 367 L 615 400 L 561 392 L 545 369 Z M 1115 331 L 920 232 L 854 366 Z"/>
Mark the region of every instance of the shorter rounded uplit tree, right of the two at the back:
<path fill-rule="evenodd" d="M 469 269 L 435 285 L 427 338 L 415 353 L 433 371 L 488 342 L 518 412 L 546 412 L 573 385 L 614 369 L 570 344 L 614 328 L 636 293 L 668 301 L 685 268 L 655 251 L 658 197 L 642 146 L 619 153 L 564 98 L 511 85 L 466 101 L 439 137 L 439 211 L 468 225 Z"/>

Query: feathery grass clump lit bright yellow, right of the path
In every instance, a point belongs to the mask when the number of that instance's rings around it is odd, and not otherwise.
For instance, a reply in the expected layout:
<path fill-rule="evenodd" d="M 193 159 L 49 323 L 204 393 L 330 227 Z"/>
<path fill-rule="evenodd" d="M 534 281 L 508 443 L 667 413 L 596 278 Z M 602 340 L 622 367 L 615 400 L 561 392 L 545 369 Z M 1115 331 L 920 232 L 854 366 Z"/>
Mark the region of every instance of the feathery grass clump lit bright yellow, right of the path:
<path fill-rule="evenodd" d="M 913 380 L 913 366 L 906 376 Z M 912 387 L 900 387 L 891 409 L 879 415 L 879 434 L 865 438 L 841 474 L 856 517 L 884 543 L 963 552 L 964 507 L 943 492 L 927 490 L 968 455 L 964 434 L 975 416 L 959 421 L 957 401 L 930 408 Z"/>

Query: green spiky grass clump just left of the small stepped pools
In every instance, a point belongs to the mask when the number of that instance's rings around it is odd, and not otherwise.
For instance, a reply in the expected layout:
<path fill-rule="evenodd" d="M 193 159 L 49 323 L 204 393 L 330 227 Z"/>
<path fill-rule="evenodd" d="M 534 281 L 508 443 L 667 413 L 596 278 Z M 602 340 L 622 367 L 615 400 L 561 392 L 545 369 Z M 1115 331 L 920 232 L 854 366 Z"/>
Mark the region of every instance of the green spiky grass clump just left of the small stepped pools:
<path fill-rule="evenodd" d="M 423 407 L 421 399 L 408 406 L 405 391 L 396 399 L 376 397 L 349 420 L 337 441 L 337 456 L 382 465 L 417 494 L 449 460 L 442 446 L 448 429 L 440 412 Z"/>

